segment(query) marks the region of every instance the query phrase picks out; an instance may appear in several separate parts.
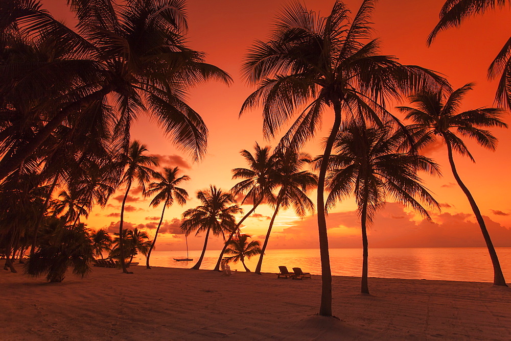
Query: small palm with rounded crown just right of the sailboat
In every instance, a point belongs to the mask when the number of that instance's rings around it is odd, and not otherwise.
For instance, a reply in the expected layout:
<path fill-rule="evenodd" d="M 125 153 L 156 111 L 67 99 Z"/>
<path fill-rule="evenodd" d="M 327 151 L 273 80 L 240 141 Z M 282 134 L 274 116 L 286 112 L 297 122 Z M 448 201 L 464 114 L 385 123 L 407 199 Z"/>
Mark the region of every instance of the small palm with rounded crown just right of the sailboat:
<path fill-rule="evenodd" d="M 210 190 L 198 191 L 197 199 L 200 200 L 202 205 L 184 211 L 184 221 L 181 224 L 181 230 L 187 235 L 194 231 L 195 235 L 206 231 L 202 253 L 197 263 L 192 267 L 192 269 L 196 270 L 200 268 L 204 258 L 210 231 L 213 231 L 213 234 L 216 236 L 224 236 L 225 232 L 233 231 L 235 227 L 235 217 L 233 214 L 242 212 L 241 207 L 238 205 L 231 205 L 236 203 L 233 194 L 224 193 L 221 189 L 217 189 L 212 185 L 210 185 Z"/>

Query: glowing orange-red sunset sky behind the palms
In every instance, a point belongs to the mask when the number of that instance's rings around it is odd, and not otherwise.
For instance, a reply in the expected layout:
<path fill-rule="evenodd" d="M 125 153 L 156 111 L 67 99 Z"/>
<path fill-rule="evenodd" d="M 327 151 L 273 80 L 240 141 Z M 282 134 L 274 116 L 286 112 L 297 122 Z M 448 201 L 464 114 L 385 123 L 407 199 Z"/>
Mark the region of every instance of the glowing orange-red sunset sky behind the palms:
<path fill-rule="evenodd" d="M 45 8 L 55 17 L 72 22 L 65 9 L 65 0 L 43 0 Z M 200 162 L 193 164 L 187 155 L 178 152 L 157 126 L 141 117 L 133 126 L 132 138 L 148 145 L 150 154 L 162 156 L 162 165 L 179 166 L 183 174 L 192 180 L 182 187 L 192 197 L 185 205 L 166 210 L 165 232 L 158 237 L 158 251 L 182 250 L 184 238 L 179 233 L 180 216 L 184 209 L 195 207 L 198 201 L 194 193 L 214 184 L 224 190 L 235 184 L 230 169 L 245 167 L 239 152 L 251 150 L 255 141 L 260 144 L 275 144 L 264 141 L 260 112 L 247 113 L 238 118 L 241 104 L 253 88 L 240 80 L 240 65 L 247 47 L 255 40 L 264 40 L 271 22 L 286 1 L 260 0 L 256 3 L 239 0 L 188 0 L 189 45 L 207 53 L 207 62 L 221 67 L 233 76 L 235 83 L 225 85 L 210 83 L 191 91 L 190 104 L 201 114 L 209 131 L 208 153 Z M 327 15 L 333 0 L 306 0 L 309 9 Z M 357 11 L 361 0 L 346 0 L 352 11 Z M 465 22 L 460 29 L 451 29 L 438 35 L 431 47 L 426 38 L 435 26 L 438 12 L 444 0 L 381 0 L 377 3 L 373 21 L 375 37 L 382 41 L 383 53 L 395 55 L 403 64 L 420 65 L 446 75 L 454 88 L 468 82 L 476 82 L 469 92 L 462 109 L 492 106 L 496 82 L 486 79 L 486 69 L 504 42 L 511 35 L 509 10 L 490 12 Z M 406 102 L 400 103 L 407 105 Z M 396 103 L 396 105 L 399 105 Z M 507 123 L 511 123 L 506 118 Z M 323 120 L 327 127 L 330 119 Z M 455 159 L 462 180 L 472 191 L 481 212 L 486 216 L 490 233 L 497 246 L 511 246 L 511 207 L 508 178 L 511 137 L 505 130 L 495 130 L 499 138 L 496 152 L 489 152 L 474 143 L 469 143 L 477 163 L 466 158 Z M 455 185 L 448 168 L 447 153 L 439 148 L 431 149 L 428 156 L 442 166 L 443 178 L 427 178 L 427 186 L 443 205 L 443 212 L 433 215 L 434 223 L 422 222 L 400 205 L 389 204 L 386 210 L 375 217 L 374 227 L 369 231 L 369 245 L 373 247 L 449 247 L 483 246 L 482 236 L 461 190 Z M 309 143 L 307 152 L 319 153 L 317 141 Z M 112 196 L 105 210 L 95 208 L 89 215 L 90 228 L 118 226 L 122 190 Z M 149 208 L 149 200 L 141 198 L 140 191 L 131 194 L 129 211 L 125 214 L 127 226 L 138 226 L 154 233 L 161 208 Z M 311 198 L 315 193 L 311 193 Z M 360 247 L 360 229 L 354 213 L 355 204 L 347 201 L 339 204 L 329 217 L 331 247 Z M 243 206 L 247 211 L 250 206 Z M 268 207 L 258 208 L 257 215 L 246 221 L 245 233 L 264 238 Z M 299 220 L 292 211 L 282 211 L 270 237 L 270 248 L 314 248 L 317 247 L 315 217 Z M 200 249 L 203 236 L 189 238 L 190 249 Z M 211 239 L 208 249 L 219 249 L 221 241 Z"/>

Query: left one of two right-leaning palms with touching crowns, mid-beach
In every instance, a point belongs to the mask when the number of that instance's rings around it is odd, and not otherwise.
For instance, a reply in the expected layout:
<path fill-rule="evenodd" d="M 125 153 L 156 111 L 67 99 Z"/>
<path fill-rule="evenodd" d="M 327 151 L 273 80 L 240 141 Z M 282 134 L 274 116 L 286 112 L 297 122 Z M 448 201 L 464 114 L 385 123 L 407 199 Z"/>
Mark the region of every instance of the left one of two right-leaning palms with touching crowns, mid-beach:
<path fill-rule="evenodd" d="M 242 150 L 241 155 L 246 159 L 249 168 L 235 168 L 233 169 L 233 179 L 245 179 L 238 182 L 231 188 L 231 193 L 234 196 L 238 196 L 240 193 L 246 193 L 243 198 L 242 204 L 247 200 L 252 200 L 253 206 L 243 218 L 236 224 L 234 230 L 230 233 L 227 242 L 224 243 L 224 247 L 220 252 L 217 264 L 215 265 L 214 271 L 220 271 L 220 262 L 222 261 L 223 255 L 227 248 L 227 243 L 238 233 L 241 224 L 246 218 L 252 214 L 255 209 L 263 202 L 264 199 L 272 197 L 272 170 L 274 164 L 274 157 L 270 152 L 270 147 L 261 148 L 257 142 L 254 145 L 254 155 L 247 150 Z"/>

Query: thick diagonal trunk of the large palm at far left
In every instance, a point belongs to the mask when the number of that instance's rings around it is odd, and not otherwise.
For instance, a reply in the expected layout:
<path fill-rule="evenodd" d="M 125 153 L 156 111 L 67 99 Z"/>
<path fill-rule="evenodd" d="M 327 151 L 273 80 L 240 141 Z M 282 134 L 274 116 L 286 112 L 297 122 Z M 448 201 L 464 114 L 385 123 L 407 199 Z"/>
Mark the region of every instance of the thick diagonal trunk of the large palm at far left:
<path fill-rule="evenodd" d="M 27 144 L 20 147 L 9 157 L 0 160 L 0 180 L 8 176 L 16 169 L 25 159 L 27 159 L 39 146 L 51 135 L 51 133 L 62 124 L 64 119 L 74 111 L 80 109 L 81 106 L 97 101 L 113 90 L 112 86 L 106 86 L 98 91 L 92 92 L 82 98 L 80 101 L 74 102 L 60 110 L 44 127 L 39 129 Z"/>

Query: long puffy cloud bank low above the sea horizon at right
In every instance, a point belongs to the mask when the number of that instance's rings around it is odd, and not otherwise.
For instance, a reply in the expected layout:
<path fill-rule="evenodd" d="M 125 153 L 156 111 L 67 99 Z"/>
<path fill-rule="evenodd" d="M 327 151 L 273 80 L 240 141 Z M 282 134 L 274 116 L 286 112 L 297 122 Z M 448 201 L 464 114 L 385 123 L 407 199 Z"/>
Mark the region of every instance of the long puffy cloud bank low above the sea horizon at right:
<path fill-rule="evenodd" d="M 399 219 L 396 219 L 399 217 Z M 291 222 L 293 226 L 275 232 L 271 248 L 318 248 L 316 216 Z M 472 214 L 441 213 L 433 222 L 416 221 L 403 206 L 388 203 L 367 229 L 371 248 L 484 247 L 481 230 Z M 511 230 L 485 216 L 486 227 L 497 247 L 511 246 Z M 356 211 L 330 213 L 327 218 L 330 248 L 360 248 L 361 226 Z"/>

